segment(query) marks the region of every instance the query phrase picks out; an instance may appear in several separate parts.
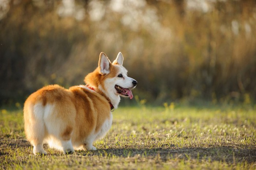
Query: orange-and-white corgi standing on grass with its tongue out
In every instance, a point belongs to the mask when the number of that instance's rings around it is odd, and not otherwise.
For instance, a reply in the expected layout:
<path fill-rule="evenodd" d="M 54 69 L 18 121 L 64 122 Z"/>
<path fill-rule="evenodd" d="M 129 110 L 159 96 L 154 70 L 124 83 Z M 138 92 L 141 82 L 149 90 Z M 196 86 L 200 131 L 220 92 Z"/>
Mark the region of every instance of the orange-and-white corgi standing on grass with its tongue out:
<path fill-rule="evenodd" d="M 127 76 L 123 55 L 111 63 L 105 53 L 98 67 L 89 73 L 86 85 L 65 89 L 45 86 L 31 94 L 24 104 L 25 134 L 35 155 L 46 155 L 44 143 L 71 154 L 74 150 L 97 150 L 93 142 L 103 138 L 112 125 L 112 113 L 120 96 L 133 98 L 137 81 Z"/>

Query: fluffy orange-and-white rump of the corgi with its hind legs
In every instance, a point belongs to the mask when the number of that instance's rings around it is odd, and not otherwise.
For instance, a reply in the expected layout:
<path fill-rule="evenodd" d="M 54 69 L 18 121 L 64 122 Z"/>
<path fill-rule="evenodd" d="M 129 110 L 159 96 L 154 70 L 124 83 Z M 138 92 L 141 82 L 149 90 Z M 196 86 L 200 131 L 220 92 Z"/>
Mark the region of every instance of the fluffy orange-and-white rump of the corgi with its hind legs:
<path fill-rule="evenodd" d="M 24 104 L 25 134 L 34 146 L 34 154 L 46 154 L 43 149 L 46 140 L 64 153 L 74 152 L 71 134 L 76 110 L 72 100 L 71 92 L 58 85 L 46 86 L 27 98 Z"/>

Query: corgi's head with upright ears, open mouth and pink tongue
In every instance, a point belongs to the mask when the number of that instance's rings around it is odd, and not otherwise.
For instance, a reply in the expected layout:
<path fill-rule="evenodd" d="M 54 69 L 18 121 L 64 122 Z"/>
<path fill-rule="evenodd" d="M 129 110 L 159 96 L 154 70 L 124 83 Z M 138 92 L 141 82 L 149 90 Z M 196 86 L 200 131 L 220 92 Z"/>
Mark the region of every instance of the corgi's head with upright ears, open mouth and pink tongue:
<path fill-rule="evenodd" d="M 111 63 L 105 53 L 99 55 L 97 69 L 89 73 L 84 81 L 87 85 L 102 91 L 110 100 L 115 96 L 133 98 L 131 90 L 137 85 L 137 81 L 127 76 L 127 70 L 123 66 L 124 57 L 118 53 Z"/>

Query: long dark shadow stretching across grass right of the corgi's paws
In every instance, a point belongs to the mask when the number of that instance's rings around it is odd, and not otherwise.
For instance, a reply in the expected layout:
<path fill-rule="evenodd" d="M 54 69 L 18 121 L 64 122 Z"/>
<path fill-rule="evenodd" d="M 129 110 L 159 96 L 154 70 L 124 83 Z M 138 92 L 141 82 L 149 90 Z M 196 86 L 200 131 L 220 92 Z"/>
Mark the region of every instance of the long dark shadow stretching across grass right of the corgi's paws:
<path fill-rule="evenodd" d="M 86 151 L 78 151 L 86 152 Z M 170 148 L 112 148 L 99 149 L 91 151 L 84 155 L 99 155 L 105 157 L 107 155 L 116 155 L 117 157 L 136 157 L 142 156 L 146 158 L 161 158 L 162 161 L 169 159 L 194 159 L 196 161 L 222 161 L 227 163 L 248 162 L 256 163 L 256 148 L 236 148 L 232 146 L 223 147 L 170 147 Z"/>

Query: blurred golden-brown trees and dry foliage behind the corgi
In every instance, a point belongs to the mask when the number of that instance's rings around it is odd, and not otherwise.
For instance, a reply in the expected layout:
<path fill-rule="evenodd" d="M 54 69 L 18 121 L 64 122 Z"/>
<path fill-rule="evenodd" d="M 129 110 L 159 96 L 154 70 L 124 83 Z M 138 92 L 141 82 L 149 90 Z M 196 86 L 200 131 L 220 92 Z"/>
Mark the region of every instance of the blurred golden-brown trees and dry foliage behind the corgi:
<path fill-rule="evenodd" d="M 256 1 L 0 0 L 0 104 L 84 84 L 101 51 L 123 53 L 148 103 L 250 102 Z"/>

